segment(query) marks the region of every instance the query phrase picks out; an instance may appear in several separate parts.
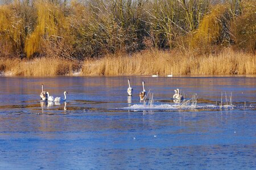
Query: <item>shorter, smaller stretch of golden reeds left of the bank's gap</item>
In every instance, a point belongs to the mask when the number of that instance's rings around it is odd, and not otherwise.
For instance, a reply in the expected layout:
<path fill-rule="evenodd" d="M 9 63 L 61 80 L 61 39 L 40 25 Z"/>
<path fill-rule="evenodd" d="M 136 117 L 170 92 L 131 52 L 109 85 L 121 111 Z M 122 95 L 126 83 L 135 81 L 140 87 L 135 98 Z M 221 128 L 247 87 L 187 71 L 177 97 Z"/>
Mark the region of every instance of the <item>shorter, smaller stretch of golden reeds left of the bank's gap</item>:
<path fill-rule="evenodd" d="M 10 75 L 65 75 L 79 69 L 79 62 L 60 58 L 0 59 L 0 72 Z"/>

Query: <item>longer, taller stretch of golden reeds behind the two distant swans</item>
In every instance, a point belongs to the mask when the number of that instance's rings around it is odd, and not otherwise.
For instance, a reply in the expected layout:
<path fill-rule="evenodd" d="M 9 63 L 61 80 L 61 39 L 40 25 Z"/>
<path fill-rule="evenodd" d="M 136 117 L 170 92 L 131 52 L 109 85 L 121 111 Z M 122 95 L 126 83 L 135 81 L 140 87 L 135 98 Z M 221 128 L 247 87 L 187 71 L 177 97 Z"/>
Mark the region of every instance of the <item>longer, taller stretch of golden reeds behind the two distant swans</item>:
<path fill-rule="evenodd" d="M 105 56 L 90 59 L 82 66 L 82 75 L 232 75 L 256 74 L 256 56 L 231 49 L 209 56 L 193 56 L 160 50 L 133 56 Z"/>

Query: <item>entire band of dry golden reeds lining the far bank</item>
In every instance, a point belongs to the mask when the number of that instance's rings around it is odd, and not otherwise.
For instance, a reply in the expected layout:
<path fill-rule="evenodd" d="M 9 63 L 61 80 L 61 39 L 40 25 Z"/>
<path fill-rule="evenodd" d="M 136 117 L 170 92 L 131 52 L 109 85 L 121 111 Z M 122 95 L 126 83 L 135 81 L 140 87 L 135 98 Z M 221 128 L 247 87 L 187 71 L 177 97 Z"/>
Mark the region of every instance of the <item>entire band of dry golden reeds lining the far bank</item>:
<path fill-rule="evenodd" d="M 193 56 L 160 50 L 129 55 L 108 55 L 101 59 L 69 61 L 60 58 L 32 60 L 0 59 L 0 71 L 11 75 L 233 75 L 256 74 L 255 54 L 231 49 L 217 55 Z"/>

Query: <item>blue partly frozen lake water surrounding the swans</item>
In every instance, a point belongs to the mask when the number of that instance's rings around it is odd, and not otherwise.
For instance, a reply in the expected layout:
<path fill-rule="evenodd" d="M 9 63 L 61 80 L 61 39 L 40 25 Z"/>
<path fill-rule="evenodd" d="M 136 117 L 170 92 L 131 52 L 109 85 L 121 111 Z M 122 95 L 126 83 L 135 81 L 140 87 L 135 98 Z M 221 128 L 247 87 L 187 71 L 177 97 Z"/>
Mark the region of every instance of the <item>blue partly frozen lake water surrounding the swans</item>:
<path fill-rule="evenodd" d="M 0 169 L 256 168 L 255 76 L 2 76 L 0 101 Z"/>

